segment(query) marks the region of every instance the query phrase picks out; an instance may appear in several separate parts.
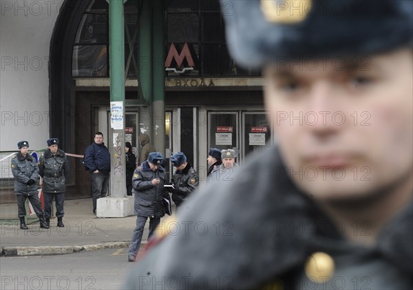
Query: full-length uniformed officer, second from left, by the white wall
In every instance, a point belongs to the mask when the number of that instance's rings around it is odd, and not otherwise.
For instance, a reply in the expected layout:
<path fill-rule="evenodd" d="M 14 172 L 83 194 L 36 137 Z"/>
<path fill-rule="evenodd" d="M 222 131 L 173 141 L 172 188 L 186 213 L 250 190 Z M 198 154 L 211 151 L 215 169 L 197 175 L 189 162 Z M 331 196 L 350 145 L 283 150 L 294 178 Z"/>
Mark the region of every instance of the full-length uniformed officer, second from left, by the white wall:
<path fill-rule="evenodd" d="M 53 197 L 56 200 L 57 226 L 64 227 L 63 203 L 65 202 L 66 178 L 69 173 L 69 163 L 66 154 L 59 149 L 59 139 L 47 140 L 45 153 L 39 158 L 39 173 L 43 177 L 43 197 L 45 199 L 45 219 L 50 226 Z"/>

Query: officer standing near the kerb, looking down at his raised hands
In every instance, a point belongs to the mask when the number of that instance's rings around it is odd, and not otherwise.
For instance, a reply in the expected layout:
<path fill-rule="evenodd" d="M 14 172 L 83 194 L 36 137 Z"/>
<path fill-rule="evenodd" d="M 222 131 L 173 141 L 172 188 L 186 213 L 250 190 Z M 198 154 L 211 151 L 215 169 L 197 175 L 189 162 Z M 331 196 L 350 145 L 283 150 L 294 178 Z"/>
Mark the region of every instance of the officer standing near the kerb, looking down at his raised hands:
<path fill-rule="evenodd" d="M 135 194 L 136 227 L 129 246 L 128 260 L 134 262 L 142 241 L 143 229 L 149 217 L 148 240 L 153 236 L 160 218 L 165 215 L 162 200 L 169 200 L 169 194 L 164 191 L 167 173 L 160 166 L 164 157 L 159 152 L 149 153 L 147 161 L 143 162 L 134 172 L 132 187 Z"/>

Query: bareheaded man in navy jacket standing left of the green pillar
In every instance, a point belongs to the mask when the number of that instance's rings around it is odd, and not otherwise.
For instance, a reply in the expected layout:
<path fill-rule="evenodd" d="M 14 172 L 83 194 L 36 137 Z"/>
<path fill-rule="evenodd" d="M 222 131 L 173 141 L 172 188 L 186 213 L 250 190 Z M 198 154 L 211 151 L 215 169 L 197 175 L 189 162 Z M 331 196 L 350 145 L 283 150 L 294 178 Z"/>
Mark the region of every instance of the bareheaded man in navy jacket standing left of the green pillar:
<path fill-rule="evenodd" d="M 96 214 L 96 201 L 100 197 L 106 197 L 110 177 L 110 153 L 103 143 L 103 133 L 96 132 L 94 143 L 87 146 L 85 164 L 92 179 L 93 213 Z"/>

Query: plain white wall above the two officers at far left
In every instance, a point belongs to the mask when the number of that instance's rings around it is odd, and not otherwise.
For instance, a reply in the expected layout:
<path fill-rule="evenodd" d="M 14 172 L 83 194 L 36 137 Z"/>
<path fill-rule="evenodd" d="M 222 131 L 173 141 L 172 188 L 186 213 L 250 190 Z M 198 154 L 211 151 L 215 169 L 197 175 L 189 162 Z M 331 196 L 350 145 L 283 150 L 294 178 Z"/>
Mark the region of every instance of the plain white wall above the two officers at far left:
<path fill-rule="evenodd" d="M 0 151 L 46 147 L 50 38 L 63 0 L 0 1 Z"/>

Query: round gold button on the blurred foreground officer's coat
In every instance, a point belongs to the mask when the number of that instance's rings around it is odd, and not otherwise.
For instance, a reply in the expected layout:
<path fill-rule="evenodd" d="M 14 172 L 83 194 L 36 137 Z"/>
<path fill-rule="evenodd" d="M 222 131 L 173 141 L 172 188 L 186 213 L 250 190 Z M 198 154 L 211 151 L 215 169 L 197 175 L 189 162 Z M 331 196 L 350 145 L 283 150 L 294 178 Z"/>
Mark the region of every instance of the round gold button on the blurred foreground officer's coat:
<path fill-rule="evenodd" d="M 316 252 L 308 257 L 305 271 L 308 279 L 323 283 L 332 278 L 334 268 L 334 260 L 330 255 Z"/>

